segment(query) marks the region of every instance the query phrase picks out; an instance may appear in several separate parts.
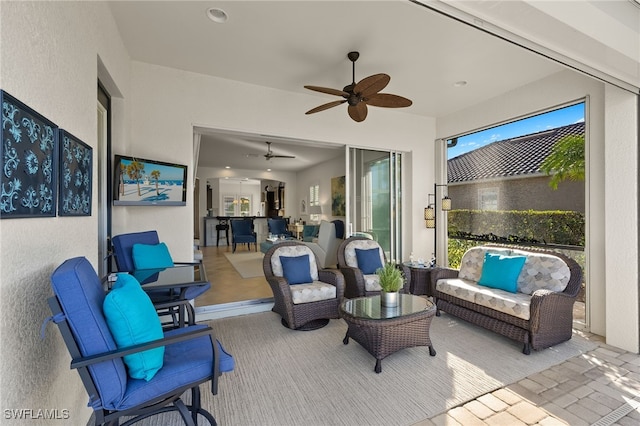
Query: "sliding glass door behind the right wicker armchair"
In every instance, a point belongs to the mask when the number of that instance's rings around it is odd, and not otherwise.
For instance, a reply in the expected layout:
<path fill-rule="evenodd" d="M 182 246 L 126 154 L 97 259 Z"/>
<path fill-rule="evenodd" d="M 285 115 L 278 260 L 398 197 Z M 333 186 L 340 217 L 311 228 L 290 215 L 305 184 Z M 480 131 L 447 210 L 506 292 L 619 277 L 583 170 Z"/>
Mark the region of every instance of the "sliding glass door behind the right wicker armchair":
<path fill-rule="evenodd" d="M 402 154 L 349 148 L 347 224 L 376 239 L 388 260 L 402 259 Z"/>

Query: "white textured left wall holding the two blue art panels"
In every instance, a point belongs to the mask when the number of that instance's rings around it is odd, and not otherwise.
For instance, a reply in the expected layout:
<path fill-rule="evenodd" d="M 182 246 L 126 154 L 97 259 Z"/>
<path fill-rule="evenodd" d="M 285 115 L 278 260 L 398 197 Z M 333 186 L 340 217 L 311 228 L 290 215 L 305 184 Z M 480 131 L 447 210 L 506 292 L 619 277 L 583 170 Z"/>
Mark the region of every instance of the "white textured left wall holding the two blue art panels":
<path fill-rule="evenodd" d="M 0 87 L 95 148 L 98 55 L 116 81 L 128 79 L 128 57 L 107 6 L 3 1 L 0 40 Z M 96 265 L 95 196 L 93 201 L 91 217 L 0 221 L 3 410 L 67 409 L 67 424 L 86 423 L 91 414 L 57 327 L 49 326 L 44 340 L 39 332 L 50 315 L 46 299 L 54 268 L 75 256 Z"/>

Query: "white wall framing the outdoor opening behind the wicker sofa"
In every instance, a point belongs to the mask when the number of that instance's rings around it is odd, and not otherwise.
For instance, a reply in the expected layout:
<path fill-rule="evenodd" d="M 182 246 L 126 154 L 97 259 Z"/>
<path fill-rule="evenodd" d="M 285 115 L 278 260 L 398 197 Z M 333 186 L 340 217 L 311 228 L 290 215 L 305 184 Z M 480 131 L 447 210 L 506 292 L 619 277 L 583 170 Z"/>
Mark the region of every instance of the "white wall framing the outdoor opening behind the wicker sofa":
<path fill-rule="evenodd" d="M 566 70 L 441 117 L 437 134 L 445 139 L 582 98 L 587 100 L 587 321 L 607 343 L 638 352 L 637 96 Z"/>

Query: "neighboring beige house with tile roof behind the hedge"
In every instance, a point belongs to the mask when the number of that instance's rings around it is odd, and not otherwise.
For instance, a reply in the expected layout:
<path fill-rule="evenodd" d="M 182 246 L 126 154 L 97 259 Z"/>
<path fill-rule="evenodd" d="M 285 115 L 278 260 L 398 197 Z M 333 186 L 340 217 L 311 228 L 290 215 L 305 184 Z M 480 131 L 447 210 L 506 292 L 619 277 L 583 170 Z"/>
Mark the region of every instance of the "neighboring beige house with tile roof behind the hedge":
<path fill-rule="evenodd" d="M 584 123 L 494 142 L 447 163 L 448 195 L 454 209 L 585 211 L 584 181 L 565 180 L 558 189 L 540 165 L 567 135 L 584 135 Z"/>

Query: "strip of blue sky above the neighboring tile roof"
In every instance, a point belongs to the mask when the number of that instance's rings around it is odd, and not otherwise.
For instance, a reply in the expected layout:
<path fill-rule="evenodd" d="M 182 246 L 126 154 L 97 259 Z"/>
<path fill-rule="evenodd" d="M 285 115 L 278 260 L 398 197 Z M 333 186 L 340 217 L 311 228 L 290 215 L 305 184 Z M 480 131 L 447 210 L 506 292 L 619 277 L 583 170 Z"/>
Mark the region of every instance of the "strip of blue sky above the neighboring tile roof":
<path fill-rule="evenodd" d="M 474 149 L 481 148 L 492 142 L 511 139 L 583 121 L 584 103 L 579 103 L 508 124 L 492 127 L 487 130 L 459 137 L 456 146 L 448 149 L 448 159 L 473 151 Z"/>

